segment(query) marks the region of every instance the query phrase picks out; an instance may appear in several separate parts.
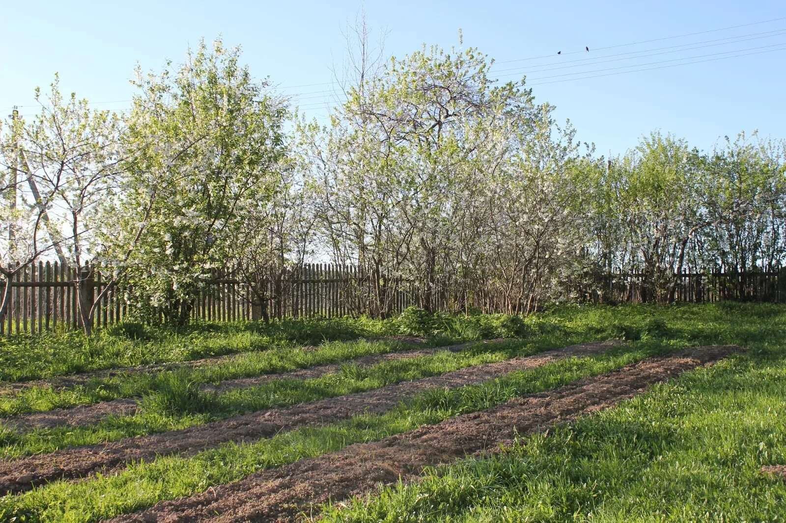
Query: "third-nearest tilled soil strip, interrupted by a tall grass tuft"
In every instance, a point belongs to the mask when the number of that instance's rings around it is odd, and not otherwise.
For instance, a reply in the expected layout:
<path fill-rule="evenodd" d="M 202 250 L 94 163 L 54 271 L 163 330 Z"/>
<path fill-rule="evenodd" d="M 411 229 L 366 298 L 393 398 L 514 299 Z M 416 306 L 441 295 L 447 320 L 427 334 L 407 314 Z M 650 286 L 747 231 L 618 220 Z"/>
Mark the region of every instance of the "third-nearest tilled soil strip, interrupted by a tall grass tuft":
<path fill-rule="evenodd" d="M 229 379 L 221 382 L 218 386 L 206 384 L 202 386 L 202 390 L 223 393 L 233 389 L 258 386 L 277 379 L 318 378 L 321 375 L 338 372 L 341 370 L 342 366 L 346 364 L 357 364 L 362 367 L 370 367 L 384 361 L 406 360 L 430 356 L 442 350 L 457 353 L 471 346 L 476 346 L 478 343 L 501 343 L 504 341 L 505 340 L 502 339 L 494 339 L 484 342 L 466 342 L 445 347 L 406 350 L 399 353 L 370 354 L 369 356 L 359 357 L 355 360 L 347 360 L 337 364 L 319 365 L 318 367 L 302 368 L 296 371 L 281 372 L 277 374 L 259 375 L 252 378 Z M 28 412 L 0 418 L 0 422 L 19 432 L 32 429 L 51 429 L 55 426 L 89 426 L 101 422 L 101 420 L 105 419 L 108 415 L 134 415 L 134 413 L 138 411 L 138 407 L 138 400 L 133 398 L 121 398 L 73 408 L 56 408 L 51 411 Z"/>

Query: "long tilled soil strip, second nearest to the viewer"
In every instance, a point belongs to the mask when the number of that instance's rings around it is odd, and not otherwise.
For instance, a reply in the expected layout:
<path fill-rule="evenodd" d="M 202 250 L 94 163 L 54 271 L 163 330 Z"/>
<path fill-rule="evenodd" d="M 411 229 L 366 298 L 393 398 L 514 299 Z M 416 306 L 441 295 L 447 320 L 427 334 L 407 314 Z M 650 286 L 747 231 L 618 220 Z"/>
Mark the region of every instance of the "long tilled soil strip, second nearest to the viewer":
<path fill-rule="evenodd" d="M 619 340 L 585 343 L 412 382 L 395 383 L 362 393 L 237 415 L 184 430 L 128 437 L 106 444 L 66 448 L 50 454 L 7 460 L 0 462 L 0 493 L 22 492 L 34 485 L 60 478 L 84 477 L 95 472 L 108 473 L 140 459 L 150 461 L 157 455 L 193 455 L 226 441 L 255 441 L 281 431 L 338 422 L 364 412 L 380 414 L 427 389 L 476 385 L 513 371 L 539 367 L 553 360 L 602 353 L 620 343 Z"/>

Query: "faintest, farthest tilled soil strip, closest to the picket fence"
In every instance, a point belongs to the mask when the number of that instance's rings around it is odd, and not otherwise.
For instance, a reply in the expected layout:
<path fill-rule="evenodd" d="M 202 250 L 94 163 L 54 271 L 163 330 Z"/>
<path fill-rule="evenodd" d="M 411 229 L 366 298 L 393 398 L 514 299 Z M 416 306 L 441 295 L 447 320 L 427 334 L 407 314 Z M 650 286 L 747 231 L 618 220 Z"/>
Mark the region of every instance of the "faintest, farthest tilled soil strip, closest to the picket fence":
<path fill-rule="evenodd" d="M 400 342 L 408 345 L 420 345 L 424 342 L 423 338 L 414 336 L 386 336 L 384 338 L 366 338 L 369 342 Z M 357 340 L 354 340 L 357 341 Z M 316 350 L 318 346 L 307 346 L 307 351 Z M 23 382 L 3 383 L 0 385 L 0 396 L 9 396 L 20 390 L 31 389 L 32 387 L 46 387 L 57 389 L 69 389 L 75 386 L 84 385 L 92 379 L 112 378 L 118 375 L 151 374 L 161 371 L 171 371 L 178 368 L 199 368 L 205 365 L 220 364 L 226 360 L 240 357 L 247 353 L 231 353 L 223 356 L 202 358 L 200 360 L 177 361 L 166 364 L 147 364 L 137 365 L 136 367 L 116 367 L 101 371 L 80 372 L 64 376 L 56 376 L 48 379 L 31 379 Z"/>

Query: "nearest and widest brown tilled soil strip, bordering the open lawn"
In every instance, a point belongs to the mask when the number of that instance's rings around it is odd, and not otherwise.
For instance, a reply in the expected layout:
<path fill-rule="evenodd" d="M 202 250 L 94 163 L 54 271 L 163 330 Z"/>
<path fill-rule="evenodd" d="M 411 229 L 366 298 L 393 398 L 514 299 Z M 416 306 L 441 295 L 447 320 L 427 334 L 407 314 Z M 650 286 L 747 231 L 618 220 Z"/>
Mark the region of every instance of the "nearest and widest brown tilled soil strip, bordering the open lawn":
<path fill-rule="evenodd" d="M 399 478 L 416 480 L 426 466 L 486 451 L 498 452 L 500 444 L 510 444 L 516 435 L 535 433 L 612 407 L 644 392 L 653 383 L 739 350 L 736 346 L 710 346 L 648 358 L 556 390 L 515 398 L 487 411 L 263 470 L 241 481 L 158 503 L 112 522 L 296 521 L 300 514 L 320 503 L 373 492 L 377 485 L 388 485 Z"/>

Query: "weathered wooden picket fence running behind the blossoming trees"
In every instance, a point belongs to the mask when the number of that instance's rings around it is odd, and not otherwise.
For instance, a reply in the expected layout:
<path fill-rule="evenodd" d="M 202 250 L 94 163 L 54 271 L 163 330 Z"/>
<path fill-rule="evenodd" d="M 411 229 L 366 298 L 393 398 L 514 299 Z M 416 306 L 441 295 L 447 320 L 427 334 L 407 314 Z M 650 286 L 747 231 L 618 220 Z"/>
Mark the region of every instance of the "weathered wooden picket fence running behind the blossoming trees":
<path fill-rule="evenodd" d="M 13 267 L 9 267 L 13 269 Z M 101 271 L 90 278 L 79 278 L 79 271 L 57 262 L 38 262 L 18 271 L 8 283 L 11 286 L 8 310 L 0 318 L 0 334 L 36 333 L 53 328 L 79 328 L 77 280 L 83 280 L 83 291 L 95 297 L 107 285 Z M 583 291 L 589 301 L 649 301 L 644 278 L 637 274 L 615 273 L 604 277 Z M 724 299 L 759 302 L 786 302 L 786 269 L 770 272 L 683 272 L 676 277 L 674 302 L 715 302 Z M 289 272 L 285 280 L 267 283 L 269 298 L 254 303 L 248 286 L 231 272 L 215 271 L 211 280 L 196 296 L 191 318 L 208 321 L 259 319 L 259 307 L 271 317 L 343 316 L 369 310 L 375 282 L 351 265 L 325 263 L 304 264 Z M 0 282 L 0 293 L 5 291 Z M 439 287 L 436 285 L 435 287 Z M 599 291 L 600 289 L 601 291 Z M 391 280 L 385 287 L 387 312 L 397 313 L 417 305 L 420 294 L 406 280 Z M 479 289 L 465 300 L 472 305 L 483 298 L 487 289 Z M 2 296 L 3 294 L 0 294 Z M 455 300 L 447 291 L 435 293 L 435 309 L 447 310 Z M 475 306 L 483 305 L 476 303 Z M 483 306 L 485 312 L 487 307 Z M 454 312 L 450 310 L 449 312 Z M 115 324 L 127 317 L 129 307 L 122 288 L 112 286 L 97 304 L 94 327 Z"/>

